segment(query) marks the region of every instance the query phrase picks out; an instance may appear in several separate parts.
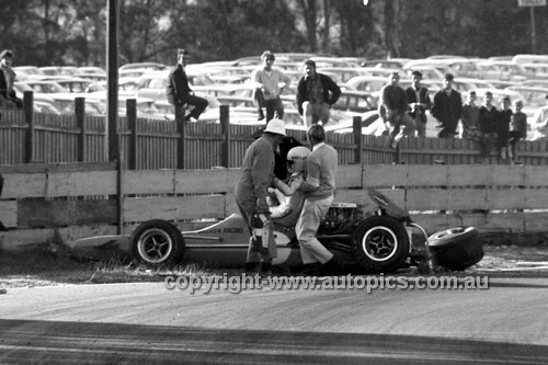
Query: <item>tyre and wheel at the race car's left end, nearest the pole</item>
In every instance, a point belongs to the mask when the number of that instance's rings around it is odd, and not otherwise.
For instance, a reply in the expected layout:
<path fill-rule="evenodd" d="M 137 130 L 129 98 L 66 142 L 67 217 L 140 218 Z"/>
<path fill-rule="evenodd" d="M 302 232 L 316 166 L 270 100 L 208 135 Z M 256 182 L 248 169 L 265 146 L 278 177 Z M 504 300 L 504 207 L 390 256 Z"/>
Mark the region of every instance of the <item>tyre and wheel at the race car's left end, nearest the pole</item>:
<path fill-rule="evenodd" d="M 133 255 L 149 266 L 170 265 L 184 255 L 181 231 L 165 220 L 155 219 L 141 224 L 132 233 Z"/>

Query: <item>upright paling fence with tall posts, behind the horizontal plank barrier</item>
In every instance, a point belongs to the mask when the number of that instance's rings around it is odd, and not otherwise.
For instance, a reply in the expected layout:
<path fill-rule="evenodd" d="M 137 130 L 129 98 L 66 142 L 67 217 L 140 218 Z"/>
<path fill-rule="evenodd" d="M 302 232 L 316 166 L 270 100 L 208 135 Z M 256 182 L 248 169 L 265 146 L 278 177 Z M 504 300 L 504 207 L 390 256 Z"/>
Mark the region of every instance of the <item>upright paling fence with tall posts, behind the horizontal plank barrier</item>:
<path fill-rule="evenodd" d="M 190 123 L 183 133 L 174 121 L 136 117 L 128 109 L 128 116 L 117 121 L 117 155 L 128 169 L 238 168 L 258 127 L 230 124 L 228 106 L 221 107 L 226 109 L 226 119 Z M 75 116 L 32 113 L 32 110 L 0 112 L 0 166 L 109 160 L 103 116 L 84 115 L 83 110 Z M 289 129 L 288 134 L 302 142 L 306 140 L 302 130 Z M 338 149 L 340 164 L 481 162 L 478 146 L 459 138 L 406 138 L 398 150 L 388 147 L 387 137 L 358 133 L 330 133 L 328 142 Z M 522 141 L 517 155 L 527 166 L 548 164 L 547 141 Z M 494 155 L 483 162 L 504 163 Z"/>

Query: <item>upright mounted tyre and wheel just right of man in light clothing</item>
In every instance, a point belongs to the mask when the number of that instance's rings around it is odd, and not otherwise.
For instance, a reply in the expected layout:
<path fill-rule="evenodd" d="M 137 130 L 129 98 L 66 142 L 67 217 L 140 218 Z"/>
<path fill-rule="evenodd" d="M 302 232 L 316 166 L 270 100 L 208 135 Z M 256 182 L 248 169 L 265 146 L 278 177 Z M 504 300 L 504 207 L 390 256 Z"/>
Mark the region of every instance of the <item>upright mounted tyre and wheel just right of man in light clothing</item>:
<path fill-rule="evenodd" d="M 402 266 L 409 255 L 409 236 L 398 219 L 373 216 L 357 226 L 352 239 L 352 251 L 367 272 L 393 272 Z"/>

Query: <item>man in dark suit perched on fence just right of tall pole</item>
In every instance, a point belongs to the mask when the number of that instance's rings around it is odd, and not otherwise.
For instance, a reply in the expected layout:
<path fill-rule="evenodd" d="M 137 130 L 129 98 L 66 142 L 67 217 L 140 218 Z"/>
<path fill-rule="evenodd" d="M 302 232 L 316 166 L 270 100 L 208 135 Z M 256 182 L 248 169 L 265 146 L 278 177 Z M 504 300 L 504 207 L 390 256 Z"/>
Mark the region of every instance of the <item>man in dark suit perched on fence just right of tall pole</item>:
<path fill-rule="evenodd" d="M 178 64 L 171 70 L 168 78 L 168 87 L 165 88 L 168 101 L 175 106 L 175 116 L 184 115 L 186 105 L 194 106 L 185 117 L 185 122 L 196 122 L 207 107 L 208 102 L 204 98 L 194 95 L 194 92 L 189 87 L 189 79 L 184 68 L 191 59 L 191 54 L 186 49 L 180 48 L 176 57 Z"/>

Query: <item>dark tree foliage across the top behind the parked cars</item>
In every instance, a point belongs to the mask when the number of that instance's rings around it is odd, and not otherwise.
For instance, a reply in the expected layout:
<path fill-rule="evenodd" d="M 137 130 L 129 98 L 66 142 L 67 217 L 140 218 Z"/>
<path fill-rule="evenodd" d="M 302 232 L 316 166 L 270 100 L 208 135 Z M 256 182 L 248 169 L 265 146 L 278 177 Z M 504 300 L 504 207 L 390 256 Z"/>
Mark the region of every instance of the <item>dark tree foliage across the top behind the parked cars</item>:
<path fill-rule="evenodd" d="M 532 53 L 528 8 L 515 0 L 116 0 L 119 62 L 194 61 L 315 52 L 354 57 Z M 107 0 L 0 0 L 2 48 L 18 65 L 105 64 Z M 548 10 L 535 8 L 537 53 Z"/>

